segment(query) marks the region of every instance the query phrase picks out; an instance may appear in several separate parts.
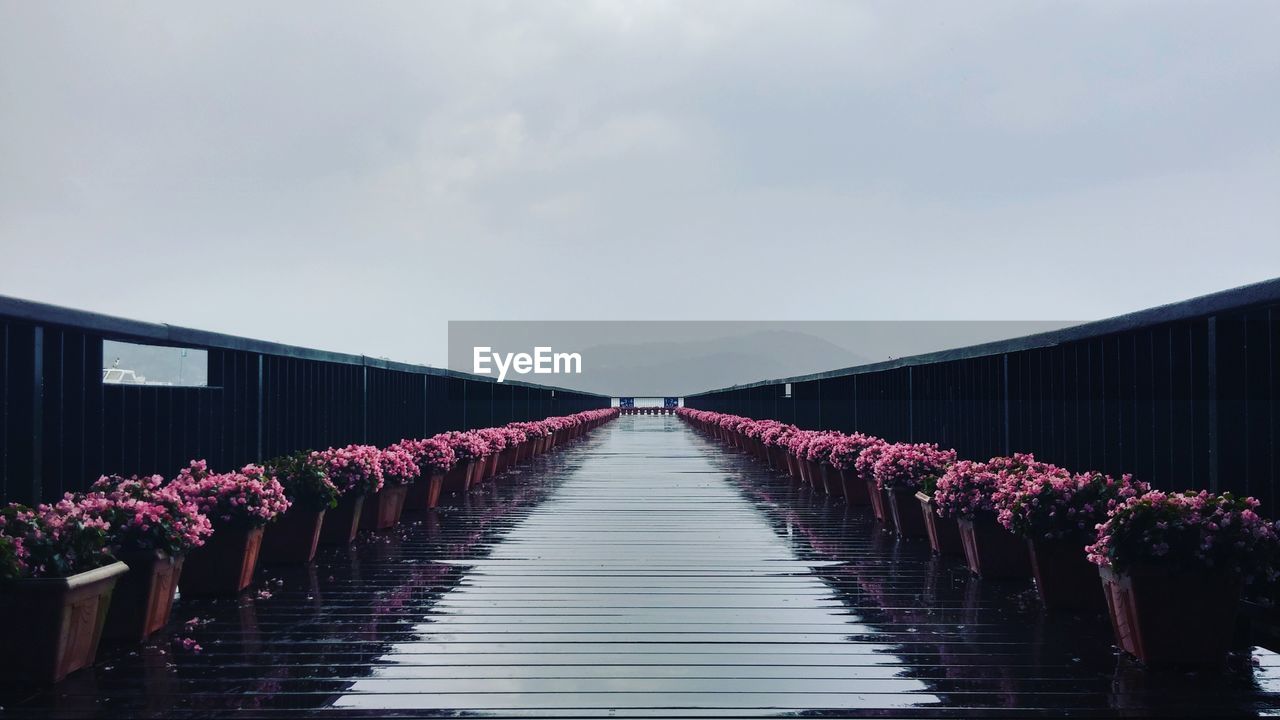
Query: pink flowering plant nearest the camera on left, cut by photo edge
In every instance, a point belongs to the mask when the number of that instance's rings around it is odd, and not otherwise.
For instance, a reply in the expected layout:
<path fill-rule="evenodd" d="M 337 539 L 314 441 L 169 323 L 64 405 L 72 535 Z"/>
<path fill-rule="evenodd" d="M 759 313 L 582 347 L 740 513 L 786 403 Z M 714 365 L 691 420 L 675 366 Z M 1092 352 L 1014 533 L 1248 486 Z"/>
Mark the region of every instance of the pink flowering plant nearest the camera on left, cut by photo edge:
<path fill-rule="evenodd" d="M 115 561 L 106 521 L 87 515 L 77 500 L 68 493 L 55 505 L 0 509 L 0 536 L 9 547 L 5 577 L 65 578 Z"/>

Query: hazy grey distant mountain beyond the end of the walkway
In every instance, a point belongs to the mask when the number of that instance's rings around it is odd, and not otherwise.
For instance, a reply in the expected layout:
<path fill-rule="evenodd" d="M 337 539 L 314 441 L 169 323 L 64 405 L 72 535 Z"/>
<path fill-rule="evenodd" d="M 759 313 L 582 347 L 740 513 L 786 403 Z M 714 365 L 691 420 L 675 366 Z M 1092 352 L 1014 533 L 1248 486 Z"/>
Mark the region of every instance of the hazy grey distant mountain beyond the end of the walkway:
<path fill-rule="evenodd" d="M 582 374 L 559 375 L 556 384 L 636 397 L 691 395 L 868 361 L 838 345 L 791 331 L 760 331 L 692 342 L 596 345 L 581 352 Z"/>

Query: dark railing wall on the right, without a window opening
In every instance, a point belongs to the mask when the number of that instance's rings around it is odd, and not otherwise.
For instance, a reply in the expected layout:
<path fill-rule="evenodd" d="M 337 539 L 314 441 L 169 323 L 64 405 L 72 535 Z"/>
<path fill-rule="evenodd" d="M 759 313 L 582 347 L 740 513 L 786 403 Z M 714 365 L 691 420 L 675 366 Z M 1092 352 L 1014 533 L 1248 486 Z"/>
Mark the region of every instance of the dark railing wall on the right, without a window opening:
<path fill-rule="evenodd" d="M 687 396 L 805 428 L 1009 452 L 1277 509 L 1280 279 L 1009 341 Z M 787 392 L 790 389 L 790 393 Z"/>

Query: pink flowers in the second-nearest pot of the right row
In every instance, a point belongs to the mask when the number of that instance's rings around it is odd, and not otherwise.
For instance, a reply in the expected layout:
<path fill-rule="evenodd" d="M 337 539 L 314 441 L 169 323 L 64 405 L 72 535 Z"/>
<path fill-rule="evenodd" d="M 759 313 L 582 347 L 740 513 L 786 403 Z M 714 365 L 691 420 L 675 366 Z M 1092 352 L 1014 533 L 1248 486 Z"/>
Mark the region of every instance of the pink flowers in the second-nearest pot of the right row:
<path fill-rule="evenodd" d="M 1102 473 L 1073 475 L 1037 464 L 1011 477 L 996 493 L 996 519 L 1024 538 L 1085 544 L 1116 506 L 1149 489 L 1130 475 L 1119 480 Z"/>

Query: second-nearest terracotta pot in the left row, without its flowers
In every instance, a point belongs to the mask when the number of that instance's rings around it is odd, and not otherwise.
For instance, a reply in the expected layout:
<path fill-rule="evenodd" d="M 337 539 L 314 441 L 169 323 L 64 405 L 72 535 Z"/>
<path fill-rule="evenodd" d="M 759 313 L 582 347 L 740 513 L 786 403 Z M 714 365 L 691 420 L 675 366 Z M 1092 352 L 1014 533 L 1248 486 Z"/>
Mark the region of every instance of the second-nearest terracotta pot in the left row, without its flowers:
<path fill-rule="evenodd" d="M 129 571 L 115 583 L 102 637 L 142 642 L 169 623 L 184 557 L 159 550 L 122 551 L 115 556 Z"/>

